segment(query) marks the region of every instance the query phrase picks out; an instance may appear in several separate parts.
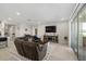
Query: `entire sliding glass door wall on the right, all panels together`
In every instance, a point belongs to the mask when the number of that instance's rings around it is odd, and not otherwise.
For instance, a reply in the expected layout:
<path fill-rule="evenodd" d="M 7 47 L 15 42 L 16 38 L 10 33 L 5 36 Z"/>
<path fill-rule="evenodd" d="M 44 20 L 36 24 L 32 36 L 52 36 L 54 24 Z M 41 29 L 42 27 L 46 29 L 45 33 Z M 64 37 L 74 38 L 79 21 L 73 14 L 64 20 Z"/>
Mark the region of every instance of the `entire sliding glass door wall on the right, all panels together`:
<path fill-rule="evenodd" d="M 86 61 L 86 5 L 71 23 L 71 47 L 78 60 Z"/>

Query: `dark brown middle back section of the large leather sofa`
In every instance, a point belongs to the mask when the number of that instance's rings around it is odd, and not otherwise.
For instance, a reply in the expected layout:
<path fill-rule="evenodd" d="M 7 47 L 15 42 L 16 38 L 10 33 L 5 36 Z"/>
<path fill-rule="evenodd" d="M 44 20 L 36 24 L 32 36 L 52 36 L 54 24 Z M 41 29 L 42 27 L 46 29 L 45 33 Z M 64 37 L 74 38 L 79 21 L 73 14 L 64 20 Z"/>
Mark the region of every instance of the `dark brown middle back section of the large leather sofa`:
<path fill-rule="evenodd" d="M 32 59 L 34 61 L 38 60 L 38 52 L 37 52 L 37 43 L 35 42 L 25 42 L 23 43 L 24 52 L 26 57 Z"/>

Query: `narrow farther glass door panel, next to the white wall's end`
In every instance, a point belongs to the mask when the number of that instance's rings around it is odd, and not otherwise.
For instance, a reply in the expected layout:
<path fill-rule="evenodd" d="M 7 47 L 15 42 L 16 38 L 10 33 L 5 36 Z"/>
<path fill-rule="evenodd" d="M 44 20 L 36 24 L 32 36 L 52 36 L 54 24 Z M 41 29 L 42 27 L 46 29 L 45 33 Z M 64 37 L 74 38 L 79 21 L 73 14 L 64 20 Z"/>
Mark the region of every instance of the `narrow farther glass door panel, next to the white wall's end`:
<path fill-rule="evenodd" d="M 71 47 L 74 52 L 77 54 L 77 17 L 74 18 L 71 26 Z"/>

